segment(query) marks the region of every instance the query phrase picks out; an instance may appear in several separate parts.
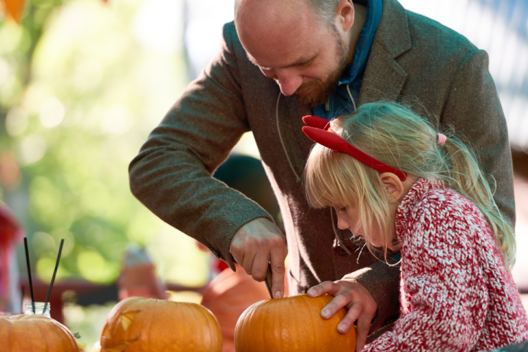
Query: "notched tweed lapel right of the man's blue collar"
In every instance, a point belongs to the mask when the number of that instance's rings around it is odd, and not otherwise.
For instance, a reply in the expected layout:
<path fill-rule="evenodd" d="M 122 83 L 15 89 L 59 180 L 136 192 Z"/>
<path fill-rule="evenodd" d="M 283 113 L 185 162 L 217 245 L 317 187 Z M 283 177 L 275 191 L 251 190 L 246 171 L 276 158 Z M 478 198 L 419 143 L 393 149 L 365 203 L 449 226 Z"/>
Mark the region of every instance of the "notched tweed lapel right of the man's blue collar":
<path fill-rule="evenodd" d="M 395 58 L 410 50 L 410 47 L 405 9 L 396 0 L 384 0 L 382 19 L 374 37 L 360 90 L 360 105 L 398 99 L 407 73 Z"/>

